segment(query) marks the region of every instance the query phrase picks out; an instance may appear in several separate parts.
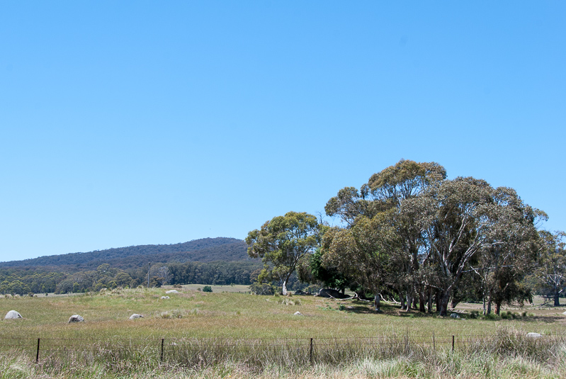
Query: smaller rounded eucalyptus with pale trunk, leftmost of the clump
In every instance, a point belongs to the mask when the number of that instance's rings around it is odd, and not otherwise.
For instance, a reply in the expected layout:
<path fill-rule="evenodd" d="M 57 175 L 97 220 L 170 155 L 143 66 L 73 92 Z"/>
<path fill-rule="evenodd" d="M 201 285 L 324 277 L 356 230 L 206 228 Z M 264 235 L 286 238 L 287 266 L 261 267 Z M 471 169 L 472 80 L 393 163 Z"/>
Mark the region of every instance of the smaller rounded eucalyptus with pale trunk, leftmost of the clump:
<path fill-rule="evenodd" d="M 283 295 L 287 295 L 289 278 L 300 259 L 320 246 L 321 230 L 317 217 L 304 212 L 288 212 L 273 217 L 260 230 L 249 232 L 246 237 L 248 255 L 264 263 L 258 276 L 259 283 L 281 281 Z"/>

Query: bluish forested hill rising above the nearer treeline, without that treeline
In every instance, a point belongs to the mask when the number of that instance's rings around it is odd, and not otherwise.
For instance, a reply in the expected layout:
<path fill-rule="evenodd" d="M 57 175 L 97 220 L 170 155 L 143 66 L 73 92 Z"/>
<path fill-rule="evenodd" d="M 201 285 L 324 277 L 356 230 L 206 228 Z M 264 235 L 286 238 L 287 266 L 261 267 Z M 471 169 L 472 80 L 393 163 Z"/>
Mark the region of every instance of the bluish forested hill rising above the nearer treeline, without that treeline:
<path fill-rule="evenodd" d="M 159 256 L 154 256 L 154 254 L 159 254 Z M 0 267 L 75 266 L 88 268 L 96 267 L 101 263 L 131 267 L 151 261 L 152 257 L 162 262 L 242 261 L 249 259 L 246 243 L 242 239 L 217 237 L 195 239 L 181 244 L 140 245 L 89 251 L 87 253 L 40 256 L 23 261 L 0 262 Z"/>

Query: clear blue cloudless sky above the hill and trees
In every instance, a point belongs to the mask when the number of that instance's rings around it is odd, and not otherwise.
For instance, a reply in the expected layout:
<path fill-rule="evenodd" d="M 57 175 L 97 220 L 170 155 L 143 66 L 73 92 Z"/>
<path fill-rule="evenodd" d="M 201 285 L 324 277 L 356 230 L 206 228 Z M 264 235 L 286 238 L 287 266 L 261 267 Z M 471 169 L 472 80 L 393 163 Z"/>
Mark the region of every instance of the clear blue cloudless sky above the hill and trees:
<path fill-rule="evenodd" d="M 400 159 L 566 229 L 564 1 L 3 1 L 0 261 L 324 213 Z"/>

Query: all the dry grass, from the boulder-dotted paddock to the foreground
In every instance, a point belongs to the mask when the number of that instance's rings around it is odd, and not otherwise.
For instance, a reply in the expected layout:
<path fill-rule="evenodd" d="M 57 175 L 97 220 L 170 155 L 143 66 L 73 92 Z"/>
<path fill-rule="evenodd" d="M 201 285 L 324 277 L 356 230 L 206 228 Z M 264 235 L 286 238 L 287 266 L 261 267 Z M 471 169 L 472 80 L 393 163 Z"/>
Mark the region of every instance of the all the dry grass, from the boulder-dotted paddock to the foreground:
<path fill-rule="evenodd" d="M 0 378 L 562 378 L 566 372 L 563 341 L 537 345 L 524 338 L 527 332 L 562 334 L 563 315 L 451 319 L 392 305 L 376 313 L 367 302 L 215 288 L 213 293 L 183 288 L 161 300 L 167 289 L 0 298 L 0 315 L 13 309 L 24 317 L 0 322 L 0 338 L 30 344 L 3 349 Z M 304 316 L 293 315 L 297 310 Z M 86 322 L 67 324 L 75 313 Z M 145 318 L 129 320 L 132 313 Z M 36 366 L 38 338 L 45 341 Z M 85 343 L 91 349 L 62 353 L 49 347 L 54 344 L 49 339 L 64 338 L 91 339 Z M 268 338 L 276 342 L 266 349 L 261 339 Z"/>

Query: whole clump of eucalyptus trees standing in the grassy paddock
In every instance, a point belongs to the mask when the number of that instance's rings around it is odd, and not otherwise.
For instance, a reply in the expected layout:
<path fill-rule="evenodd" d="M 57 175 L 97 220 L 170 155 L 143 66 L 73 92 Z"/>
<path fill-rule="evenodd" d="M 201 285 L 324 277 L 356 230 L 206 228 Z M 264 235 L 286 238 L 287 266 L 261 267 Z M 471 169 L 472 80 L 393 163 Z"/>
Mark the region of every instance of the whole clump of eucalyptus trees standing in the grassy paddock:
<path fill-rule="evenodd" d="M 531 300 L 532 286 L 565 288 L 564 234 L 538 230 L 547 216 L 512 188 L 471 177 L 446 179 L 443 166 L 402 160 L 346 187 L 325 206 L 341 226 L 287 213 L 249 232 L 248 254 L 264 261 L 258 282 L 302 281 L 372 293 L 409 310 L 446 315 L 464 299 L 492 304 Z"/>

